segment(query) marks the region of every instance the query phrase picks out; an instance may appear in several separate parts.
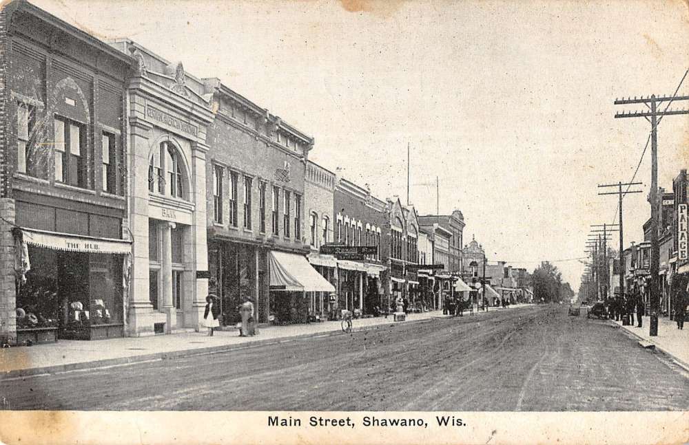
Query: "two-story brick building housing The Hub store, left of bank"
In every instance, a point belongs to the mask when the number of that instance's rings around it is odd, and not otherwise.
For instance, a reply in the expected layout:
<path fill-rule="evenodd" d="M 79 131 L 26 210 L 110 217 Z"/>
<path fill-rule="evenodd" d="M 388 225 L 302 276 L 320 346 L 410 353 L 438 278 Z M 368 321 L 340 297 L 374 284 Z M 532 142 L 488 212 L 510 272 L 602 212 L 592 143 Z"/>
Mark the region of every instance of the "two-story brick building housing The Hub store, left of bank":
<path fill-rule="evenodd" d="M 122 336 L 134 60 L 25 1 L 0 26 L 0 335 Z"/>

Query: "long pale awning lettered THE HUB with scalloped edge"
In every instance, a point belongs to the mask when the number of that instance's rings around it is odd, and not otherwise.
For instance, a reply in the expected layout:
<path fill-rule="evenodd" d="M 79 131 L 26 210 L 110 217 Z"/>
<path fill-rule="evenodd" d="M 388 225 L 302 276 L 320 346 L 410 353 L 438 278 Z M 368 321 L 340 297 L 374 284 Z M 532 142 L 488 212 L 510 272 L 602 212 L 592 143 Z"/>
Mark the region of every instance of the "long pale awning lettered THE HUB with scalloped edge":
<path fill-rule="evenodd" d="M 131 241 L 124 239 L 81 237 L 69 233 L 46 232 L 45 230 L 28 228 L 21 228 L 21 233 L 25 243 L 46 249 L 106 254 L 128 254 L 132 252 Z"/>

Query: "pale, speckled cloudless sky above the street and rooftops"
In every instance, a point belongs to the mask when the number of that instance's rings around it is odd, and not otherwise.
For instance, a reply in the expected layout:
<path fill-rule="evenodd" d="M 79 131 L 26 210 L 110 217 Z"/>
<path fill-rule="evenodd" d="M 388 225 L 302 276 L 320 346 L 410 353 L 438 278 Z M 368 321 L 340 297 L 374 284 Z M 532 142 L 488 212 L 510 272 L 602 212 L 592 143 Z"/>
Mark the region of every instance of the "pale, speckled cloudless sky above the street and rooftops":
<path fill-rule="evenodd" d="M 436 213 L 438 177 L 440 213 L 462 211 L 464 243 L 528 270 L 553 261 L 575 290 L 590 225 L 617 222 L 597 184 L 639 165 L 626 246 L 650 216 L 650 147 L 639 164 L 650 124 L 615 119 L 643 105 L 613 101 L 670 95 L 689 68 L 680 0 L 32 3 L 220 78 L 313 136 L 311 160 L 382 199 L 407 199 L 409 144 L 420 215 Z M 661 122 L 658 162 L 671 189 L 689 164 L 689 116 Z"/>

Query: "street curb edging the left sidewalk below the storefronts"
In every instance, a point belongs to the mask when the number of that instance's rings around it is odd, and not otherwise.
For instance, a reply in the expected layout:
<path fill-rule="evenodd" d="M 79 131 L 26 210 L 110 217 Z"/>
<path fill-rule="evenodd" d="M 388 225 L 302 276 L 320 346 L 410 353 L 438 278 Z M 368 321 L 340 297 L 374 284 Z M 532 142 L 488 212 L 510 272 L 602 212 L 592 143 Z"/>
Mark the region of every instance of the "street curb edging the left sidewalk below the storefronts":
<path fill-rule="evenodd" d="M 402 324 L 415 324 L 415 323 L 428 323 L 433 321 L 435 318 L 442 317 L 429 317 L 420 318 L 418 320 L 407 320 L 402 322 L 390 321 L 389 323 L 380 323 L 380 325 L 371 325 L 367 327 L 360 327 L 358 329 L 353 329 L 353 332 L 365 332 L 370 329 L 379 327 L 391 327 L 395 325 Z M 182 349 L 180 351 L 168 351 L 168 352 L 154 352 L 152 354 L 143 354 L 138 356 L 130 357 L 117 357 L 117 358 L 105 358 L 103 360 L 94 360 L 91 362 L 76 362 L 76 363 L 66 363 L 65 365 L 50 365 L 45 367 L 35 367 L 35 368 L 25 368 L 25 369 L 12 369 L 10 371 L 0 371 L 0 380 L 20 378 L 20 377 L 31 377 L 38 376 L 41 374 L 53 374 L 68 371 L 82 371 L 84 369 L 96 369 L 103 367 L 112 367 L 118 365 L 136 365 L 136 363 L 151 362 L 154 360 L 170 360 L 174 358 L 186 358 L 193 356 L 204 356 L 208 354 L 218 354 L 222 352 L 235 351 L 239 349 L 249 349 L 254 347 L 262 347 L 269 345 L 277 345 L 278 343 L 285 343 L 292 340 L 300 340 L 302 338 L 310 338 L 315 336 L 335 336 L 336 334 L 343 334 L 342 329 L 333 329 L 331 331 L 322 332 L 312 332 L 309 334 L 299 334 L 294 336 L 284 336 L 268 338 L 266 340 L 253 340 L 245 343 L 235 343 L 233 345 L 218 345 L 209 346 L 197 349 Z"/>

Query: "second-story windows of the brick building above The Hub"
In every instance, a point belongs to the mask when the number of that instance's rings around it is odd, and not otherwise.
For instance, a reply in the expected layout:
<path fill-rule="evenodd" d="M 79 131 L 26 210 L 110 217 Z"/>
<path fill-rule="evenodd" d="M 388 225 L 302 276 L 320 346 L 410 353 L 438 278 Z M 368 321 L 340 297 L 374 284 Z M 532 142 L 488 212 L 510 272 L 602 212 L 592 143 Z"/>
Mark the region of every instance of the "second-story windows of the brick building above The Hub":
<path fill-rule="evenodd" d="M 93 189 L 95 181 L 89 184 L 89 177 L 94 173 L 94 167 L 88 160 L 94 158 L 94 150 L 88 144 L 87 126 L 58 115 L 54 116 L 52 125 L 52 142 L 40 142 L 43 139 L 41 135 L 45 134 L 45 122 L 37 122 L 36 110 L 32 105 L 23 102 L 17 104 L 17 171 L 48 180 L 53 160 L 55 182 Z M 123 195 L 123 180 L 118 184 L 118 176 L 124 177 L 118 175 L 123 170 L 121 144 L 116 135 L 108 131 L 103 131 L 96 141 L 101 144 L 101 165 L 96 171 L 101 177 L 102 190 Z"/>

